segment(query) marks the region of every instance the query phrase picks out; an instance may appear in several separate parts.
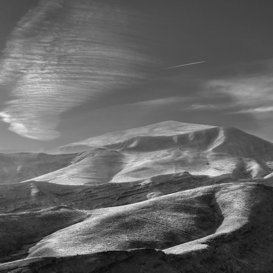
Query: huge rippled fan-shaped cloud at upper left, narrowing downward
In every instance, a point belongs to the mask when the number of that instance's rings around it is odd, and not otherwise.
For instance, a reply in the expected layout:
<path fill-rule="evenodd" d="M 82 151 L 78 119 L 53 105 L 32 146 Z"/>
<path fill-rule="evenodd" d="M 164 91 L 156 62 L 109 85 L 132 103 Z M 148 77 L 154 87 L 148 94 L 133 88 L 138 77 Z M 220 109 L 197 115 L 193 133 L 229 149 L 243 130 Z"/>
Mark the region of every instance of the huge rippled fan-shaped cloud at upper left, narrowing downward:
<path fill-rule="evenodd" d="M 149 77 L 158 66 L 149 21 L 117 3 L 40 1 L 20 20 L 0 63 L 0 88 L 11 96 L 0 117 L 9 130 L 57 138 L 59 114 Z"/>

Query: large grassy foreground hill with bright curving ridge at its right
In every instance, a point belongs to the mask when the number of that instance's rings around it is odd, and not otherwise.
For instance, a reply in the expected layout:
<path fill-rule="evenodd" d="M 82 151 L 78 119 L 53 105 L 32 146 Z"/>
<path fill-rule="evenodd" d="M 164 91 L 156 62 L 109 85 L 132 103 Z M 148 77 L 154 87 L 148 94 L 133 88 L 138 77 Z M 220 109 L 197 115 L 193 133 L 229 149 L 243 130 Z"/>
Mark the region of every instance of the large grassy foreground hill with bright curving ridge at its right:
<path fill-rule="evenodd" d="M 198 253 L 205 264 L 213 263 L 211 257 L 232 261 L 230 266 L 251 260 L 264 266 L 273 251 L 272 200 L 271 187 L 231 183 L 98 210 L 40 240 L 28 257 L 146 247 L 189 257 Z"/>

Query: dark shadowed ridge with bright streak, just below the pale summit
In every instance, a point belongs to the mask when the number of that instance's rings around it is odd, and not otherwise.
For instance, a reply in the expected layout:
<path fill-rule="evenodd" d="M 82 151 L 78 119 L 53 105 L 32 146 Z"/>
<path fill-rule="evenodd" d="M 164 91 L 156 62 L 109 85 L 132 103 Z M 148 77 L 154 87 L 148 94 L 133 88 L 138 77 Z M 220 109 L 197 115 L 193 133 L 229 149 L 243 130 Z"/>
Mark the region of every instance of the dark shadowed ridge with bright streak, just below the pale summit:
<path fill-rule="evenodd" d="M 212 127 L 169 136 L 137 136 L 108 144 L 112 149 L 155 151 L 180 147 L 226 153 L 232 156 L 273 160 L 273 143 L 237 128 Z"/>

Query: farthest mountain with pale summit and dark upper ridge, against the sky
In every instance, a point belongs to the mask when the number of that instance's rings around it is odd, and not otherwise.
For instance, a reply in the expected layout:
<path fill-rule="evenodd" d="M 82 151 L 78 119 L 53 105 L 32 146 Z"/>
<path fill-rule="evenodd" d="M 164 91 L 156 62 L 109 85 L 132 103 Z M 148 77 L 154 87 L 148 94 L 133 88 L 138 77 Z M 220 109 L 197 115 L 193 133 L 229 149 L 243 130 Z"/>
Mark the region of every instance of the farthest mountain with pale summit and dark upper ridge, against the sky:
<path fill-rule="evenodd" d="M 113 149 L 160 150 L 170 147 L 215 151 L 234 156 L 273 159 L 273 143 L 233 127 L 216 127 L 164 121 L 74 142 L 59 148 L 109 147 Z"/>

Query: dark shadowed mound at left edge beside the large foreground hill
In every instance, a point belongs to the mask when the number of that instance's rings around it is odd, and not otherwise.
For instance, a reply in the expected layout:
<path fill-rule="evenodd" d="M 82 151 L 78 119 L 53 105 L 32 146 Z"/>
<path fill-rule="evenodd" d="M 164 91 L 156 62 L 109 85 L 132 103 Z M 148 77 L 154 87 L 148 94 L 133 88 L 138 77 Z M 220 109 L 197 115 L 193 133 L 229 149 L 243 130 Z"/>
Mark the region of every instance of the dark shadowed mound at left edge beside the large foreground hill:
<path fill-rule="evenodd" d="M 88 211 L 55 207 L 39 212 L 7 214 L 0 217 L 0 261 L 27 255 L 32 243 L 48 234 L 78 223 Z"/>

